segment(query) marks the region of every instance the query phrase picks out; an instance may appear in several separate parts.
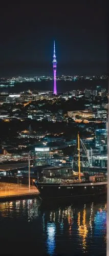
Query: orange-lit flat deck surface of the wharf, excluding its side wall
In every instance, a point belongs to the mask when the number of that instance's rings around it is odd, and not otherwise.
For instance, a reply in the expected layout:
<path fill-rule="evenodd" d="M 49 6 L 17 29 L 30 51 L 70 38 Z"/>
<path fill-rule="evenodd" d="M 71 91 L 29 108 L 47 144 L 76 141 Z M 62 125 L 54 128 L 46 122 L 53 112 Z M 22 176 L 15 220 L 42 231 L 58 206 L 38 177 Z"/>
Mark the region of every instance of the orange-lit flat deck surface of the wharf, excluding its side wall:
<path fill-rule="evenodd" d="M 23 184 L 13 184 L 0 182 L 0 197 L 6 196 L 17 196 L 17 195 L 29 195 L 37 194 L 38 189 L 35 186 L 30 186 L 30 191 L 28 185 Z"/>

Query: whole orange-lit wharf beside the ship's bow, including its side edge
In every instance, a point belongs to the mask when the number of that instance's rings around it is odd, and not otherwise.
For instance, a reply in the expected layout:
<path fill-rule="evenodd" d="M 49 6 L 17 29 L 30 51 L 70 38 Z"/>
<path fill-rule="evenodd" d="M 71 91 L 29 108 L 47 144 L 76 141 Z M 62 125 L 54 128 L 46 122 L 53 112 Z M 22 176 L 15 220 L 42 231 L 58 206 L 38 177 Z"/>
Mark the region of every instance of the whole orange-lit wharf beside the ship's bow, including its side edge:
<path fill-rule="evenodd" d="M 39 194 L 35 186 L 0 182 L 0 202 L 35 197 Z"/>

